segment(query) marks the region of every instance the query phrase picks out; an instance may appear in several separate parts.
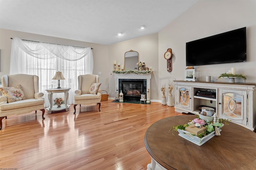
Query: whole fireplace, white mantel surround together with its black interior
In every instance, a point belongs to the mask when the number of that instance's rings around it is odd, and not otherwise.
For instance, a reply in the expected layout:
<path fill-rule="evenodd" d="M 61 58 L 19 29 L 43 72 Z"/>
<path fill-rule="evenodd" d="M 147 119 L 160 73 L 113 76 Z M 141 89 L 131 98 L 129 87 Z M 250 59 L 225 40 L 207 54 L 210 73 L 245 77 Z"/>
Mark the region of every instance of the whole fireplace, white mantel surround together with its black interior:
<path fill-rule="evenodd" d="M 138 95 L 138 93 L 136 94 L 135 90 L 141 91 L 141 93 L 144 93 L 144 94 L 147 94 L 147 90 L 150 92 L 150 79 L 151 79 L 151 72 L 149 74 L 133 74 L 133 73 L 115 74 L 115 82 L 116 82 L 115 89 L 118 89 L 119 92 L 120 90 L 122 90 L 123 94 L 124 95 L 126 94 L 126 96 L 124 96 L 124 100 L 134 100 L 134 98 L 136 98 L 135 100 L 140 101 L 141 95 Z M 124 81 L 123 85 L 122 83 L 120 83 L 122 81 Z M 130 92 L 131 90 L 135 92 L 132 93 L 132 95 L 130 96 L 127 95 L 127 93 L 131 94 Z M 149 99 L 150 101 L 150 94 L 149 96 L 146 97 L 146 99 Z"/>

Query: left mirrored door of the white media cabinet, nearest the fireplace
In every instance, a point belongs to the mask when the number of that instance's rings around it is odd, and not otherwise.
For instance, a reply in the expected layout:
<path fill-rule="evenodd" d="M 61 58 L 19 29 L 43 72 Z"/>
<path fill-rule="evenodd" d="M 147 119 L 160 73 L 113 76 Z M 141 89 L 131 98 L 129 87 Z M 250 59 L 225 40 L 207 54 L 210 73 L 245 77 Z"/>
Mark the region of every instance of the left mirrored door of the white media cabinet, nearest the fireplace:
<path fill-rule="evenodd" d="M 178 105 L 180 107 L 184 107 L 186 109 L 191 109 L 191 102 L 190 102 L 190 99 L 191 99 L 191 87 L 185 87 L 185 86 L 178 86 L 178 96 L 179 96 L 179 99 L 178 99 Z"/>

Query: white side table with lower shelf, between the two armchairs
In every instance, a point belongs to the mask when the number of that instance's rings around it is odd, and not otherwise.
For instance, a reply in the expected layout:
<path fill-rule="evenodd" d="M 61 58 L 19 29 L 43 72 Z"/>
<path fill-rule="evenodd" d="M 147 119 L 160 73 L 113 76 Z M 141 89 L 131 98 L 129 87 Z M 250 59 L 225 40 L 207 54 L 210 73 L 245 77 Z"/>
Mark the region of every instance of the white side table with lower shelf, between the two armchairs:
<path fill-rule="evenodd" d="M 59 110 L 66 110 L 68 111 L 70 105 L 67 104 L 68 101 L 68 91 L 70 88 L 50 88 L 46 89 L 48 92 L 48 100 L 50 102 L 50 107 L 47 107 L 46 110 L 48 110 L 49 113 L 52 113 L 52 111 L 59 111 Z M 52 94 L 54 93 L 64 93 L 64 103 L 60 107 L 57 107 L 57 105 L 53 106 L 53 100 L 52 100 Z"/>

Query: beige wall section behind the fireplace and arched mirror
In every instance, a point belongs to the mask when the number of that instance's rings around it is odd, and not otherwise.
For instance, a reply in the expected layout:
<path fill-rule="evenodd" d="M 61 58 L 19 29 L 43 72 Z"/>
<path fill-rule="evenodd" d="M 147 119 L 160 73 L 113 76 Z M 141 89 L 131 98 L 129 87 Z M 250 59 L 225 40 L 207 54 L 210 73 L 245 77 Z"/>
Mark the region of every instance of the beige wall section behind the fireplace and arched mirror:
<path fill-rule="evenodd" d="M 116 91 L 114 74 L 111 75 L 114 61 L 124 64 L 124 53 L 130 50 L 138 51 L 139 60 L 154 71 L 150 80 L 150 98 L 158 100 L 158 33 L 109 45 L 109 97 L 115 97 Z"/>

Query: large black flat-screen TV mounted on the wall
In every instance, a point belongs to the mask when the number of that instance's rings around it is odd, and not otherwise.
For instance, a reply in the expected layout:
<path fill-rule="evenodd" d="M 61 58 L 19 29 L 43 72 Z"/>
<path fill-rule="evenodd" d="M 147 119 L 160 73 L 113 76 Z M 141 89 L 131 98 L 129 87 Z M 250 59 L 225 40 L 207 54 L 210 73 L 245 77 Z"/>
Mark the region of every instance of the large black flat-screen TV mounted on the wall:
<path fill-rule="evenodd" d="M 246 27 L 186 43 L 186 66 L 246 62 Z"/>

